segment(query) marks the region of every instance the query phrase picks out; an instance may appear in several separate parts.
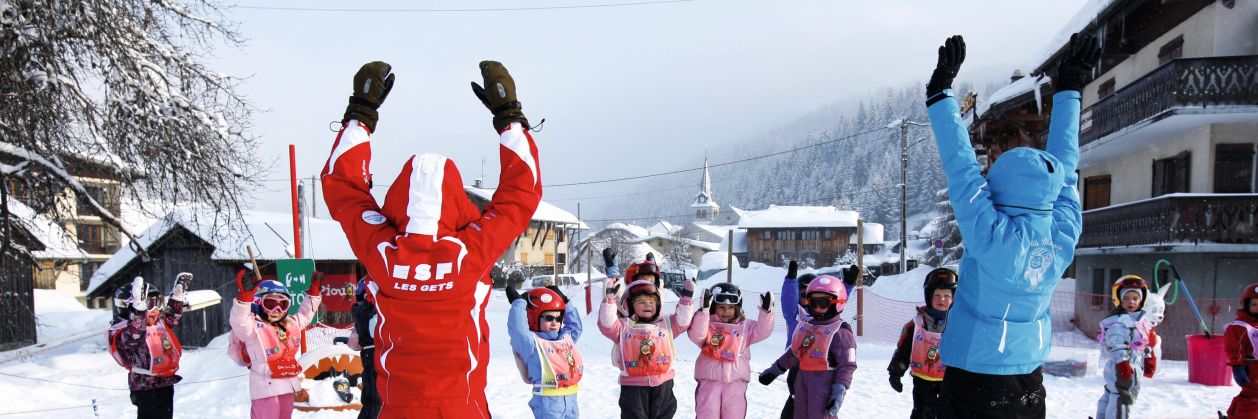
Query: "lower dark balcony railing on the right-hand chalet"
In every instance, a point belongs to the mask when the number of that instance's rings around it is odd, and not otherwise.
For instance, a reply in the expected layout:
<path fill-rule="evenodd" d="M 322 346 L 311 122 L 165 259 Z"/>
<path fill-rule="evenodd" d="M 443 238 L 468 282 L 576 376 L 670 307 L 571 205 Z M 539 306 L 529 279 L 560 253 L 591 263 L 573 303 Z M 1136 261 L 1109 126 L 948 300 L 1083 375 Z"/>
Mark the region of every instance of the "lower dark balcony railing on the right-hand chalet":
<path fill-rule="evenodd" d="M 1083 213 L 1079 248 L 1258 243 L 1258 194 L 1170 194 Z"/>

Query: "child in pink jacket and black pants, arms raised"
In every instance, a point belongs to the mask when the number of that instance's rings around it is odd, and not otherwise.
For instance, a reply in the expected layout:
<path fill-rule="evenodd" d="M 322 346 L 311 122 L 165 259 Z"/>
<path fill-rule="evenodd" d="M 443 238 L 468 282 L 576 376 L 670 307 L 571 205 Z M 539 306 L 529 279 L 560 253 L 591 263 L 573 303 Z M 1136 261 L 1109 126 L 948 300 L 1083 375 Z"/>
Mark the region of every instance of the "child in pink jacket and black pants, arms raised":
<path fill-rule="evenodd" d="M 611 340 L 611 360 L 620 369 L 620 418 L 668 419 L 677 413 L 673 337 L 691 326 L 694 282 L 686 282 L 677 311 L 665 317 L 655 263 L 642 262 L 626 271 L 635 272 L 626 278 L 630 282 L 620 299 L 629 317 L 616 315 L 616 281 L 608 282 L 599 308 L 599 331 Z"/>

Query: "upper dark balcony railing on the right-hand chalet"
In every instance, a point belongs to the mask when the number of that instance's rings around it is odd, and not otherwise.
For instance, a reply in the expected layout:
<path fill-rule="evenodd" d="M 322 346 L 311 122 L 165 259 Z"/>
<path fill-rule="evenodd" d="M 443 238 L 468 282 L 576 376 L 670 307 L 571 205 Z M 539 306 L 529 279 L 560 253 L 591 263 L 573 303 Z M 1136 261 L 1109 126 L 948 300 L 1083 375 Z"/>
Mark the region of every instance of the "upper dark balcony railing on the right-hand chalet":
<path fill-rule="evenodd" d="M 1079 145 L 1177 107 L 1258 106 L 1258 55 L 1180 58 L 1083 111 Z"/>

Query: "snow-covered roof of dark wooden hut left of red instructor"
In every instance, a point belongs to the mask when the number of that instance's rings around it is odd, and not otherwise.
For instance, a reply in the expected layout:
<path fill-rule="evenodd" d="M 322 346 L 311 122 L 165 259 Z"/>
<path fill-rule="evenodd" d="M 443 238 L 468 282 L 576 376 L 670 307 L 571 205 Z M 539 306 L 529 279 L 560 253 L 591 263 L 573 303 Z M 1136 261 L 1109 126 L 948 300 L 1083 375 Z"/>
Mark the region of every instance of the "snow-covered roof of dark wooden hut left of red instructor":
<path fill-rule="evenodd" d="M 210 254 L 213 260 L 248 260 L 249 254 L 245 245 L 253 247 L 254 257 L 258 260 L 292 258 L 294 247 L 292 244 L 293 218 L 291 214 L 250 210 L 244 211 L 243 215 L 245 226 L 243 232 L 215 230 L 214 214 L 196 209 L 177 209 L 150 225 L 136 237 L 136 240 L 140 245 L 150 248 L 174 232 L 176 226 L 182 226 L 214 247 L 214 253 Z M 221 223 L 221 219 L 219 221 Z M 309 243 L 304 243 L 302 247 L 304 253 L 302 257 L 316 260 L 357 260 L 340 223 L 311 218 L 306 221 L 304 234 Z M 92 274 L 87 293 L 91 294 L 137 257 L 138 254 L 131 247 L 118 249 Z"/>

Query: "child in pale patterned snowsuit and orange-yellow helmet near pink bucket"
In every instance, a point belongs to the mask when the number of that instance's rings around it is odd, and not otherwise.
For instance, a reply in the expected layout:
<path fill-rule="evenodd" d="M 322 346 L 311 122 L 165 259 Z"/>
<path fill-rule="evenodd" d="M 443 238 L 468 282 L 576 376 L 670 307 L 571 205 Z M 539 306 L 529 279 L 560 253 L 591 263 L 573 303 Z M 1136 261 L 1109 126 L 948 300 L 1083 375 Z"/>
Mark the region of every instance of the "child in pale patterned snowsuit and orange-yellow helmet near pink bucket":
<path fill-rule="evenodd" d="M 1140 395 L 1145 359 L 1152 351 L 1149 346 L 1152 326 L 1142 310 L 1147 296 L 1149 287 L 1141 277 L 1126 276 L 1113 283 L 1110 297 L 1115 308 L 1101 320 L 1098 336 L 1106 364 L 1105 394 L 1097 400 L 1097 419 L 1128 418 Z"/>

